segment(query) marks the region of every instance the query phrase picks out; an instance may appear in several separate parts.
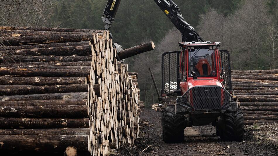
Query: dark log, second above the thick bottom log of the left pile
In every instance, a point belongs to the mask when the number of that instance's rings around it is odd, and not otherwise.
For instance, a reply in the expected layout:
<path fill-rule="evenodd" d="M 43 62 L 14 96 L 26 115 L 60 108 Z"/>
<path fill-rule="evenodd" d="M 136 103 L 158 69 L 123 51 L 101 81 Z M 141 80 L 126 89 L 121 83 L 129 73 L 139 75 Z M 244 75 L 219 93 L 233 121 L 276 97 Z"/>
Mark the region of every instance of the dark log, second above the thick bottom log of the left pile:
<path fill-rule="evenodd" d="M 1 129 L 88 128 L 89 119 L 35 119 L 0 117 Z"/>

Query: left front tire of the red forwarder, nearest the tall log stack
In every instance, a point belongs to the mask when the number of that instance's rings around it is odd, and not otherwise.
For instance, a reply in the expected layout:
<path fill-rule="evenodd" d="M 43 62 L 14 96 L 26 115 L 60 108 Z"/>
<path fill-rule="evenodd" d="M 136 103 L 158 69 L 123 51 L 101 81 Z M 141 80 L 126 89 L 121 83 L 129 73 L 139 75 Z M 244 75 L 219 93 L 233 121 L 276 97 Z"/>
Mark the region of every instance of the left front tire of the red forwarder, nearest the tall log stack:
<path fill-rule="evenodd" d="M 165 143 L 180 143 L 184 139 L 185 117 L 175 114 L 173 107 L 162 108 L 162 139 Z"/>

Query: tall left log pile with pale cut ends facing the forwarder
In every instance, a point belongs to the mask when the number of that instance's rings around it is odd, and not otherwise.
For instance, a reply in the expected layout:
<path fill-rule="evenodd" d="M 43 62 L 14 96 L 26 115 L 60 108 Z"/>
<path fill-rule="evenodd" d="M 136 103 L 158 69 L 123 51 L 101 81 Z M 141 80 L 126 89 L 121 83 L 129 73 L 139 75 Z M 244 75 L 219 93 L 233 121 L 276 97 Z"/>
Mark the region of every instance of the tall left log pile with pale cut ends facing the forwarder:
<path fill-rule="evenodd" d="M 109 31 L 0 27 L 0 43 L 1 153 L 106 155 L 134 143 L 138 73 L 118 62 Z"/>

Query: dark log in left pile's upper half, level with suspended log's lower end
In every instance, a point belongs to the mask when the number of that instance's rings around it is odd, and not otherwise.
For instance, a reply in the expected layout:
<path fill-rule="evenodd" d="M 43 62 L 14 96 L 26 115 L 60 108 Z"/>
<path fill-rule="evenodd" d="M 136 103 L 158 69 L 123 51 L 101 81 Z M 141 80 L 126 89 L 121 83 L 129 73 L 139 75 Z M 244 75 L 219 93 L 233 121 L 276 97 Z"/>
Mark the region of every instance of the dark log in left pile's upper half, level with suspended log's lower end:
<path fill-rule="evenodd" d="M 0 63 L 19 63 L 19 62 L 77 62 L 91 61 L 92 56 L 1 56 Z"/>

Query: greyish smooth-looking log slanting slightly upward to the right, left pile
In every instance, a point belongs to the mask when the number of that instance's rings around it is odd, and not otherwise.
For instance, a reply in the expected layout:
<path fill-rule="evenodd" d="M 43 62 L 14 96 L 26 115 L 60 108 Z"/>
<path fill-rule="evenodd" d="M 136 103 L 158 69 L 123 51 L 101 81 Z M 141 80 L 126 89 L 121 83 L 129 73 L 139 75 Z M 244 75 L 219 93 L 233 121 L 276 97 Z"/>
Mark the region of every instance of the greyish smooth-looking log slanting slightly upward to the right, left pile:
<path fill-rule="evenodd" d="M 59 100 L 59 99 L 87 99 L 88 93 L 54 93 L 33 95 L 0 96 L 0 101 L 22 101 L 22 100 Z"/>

